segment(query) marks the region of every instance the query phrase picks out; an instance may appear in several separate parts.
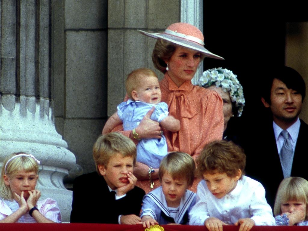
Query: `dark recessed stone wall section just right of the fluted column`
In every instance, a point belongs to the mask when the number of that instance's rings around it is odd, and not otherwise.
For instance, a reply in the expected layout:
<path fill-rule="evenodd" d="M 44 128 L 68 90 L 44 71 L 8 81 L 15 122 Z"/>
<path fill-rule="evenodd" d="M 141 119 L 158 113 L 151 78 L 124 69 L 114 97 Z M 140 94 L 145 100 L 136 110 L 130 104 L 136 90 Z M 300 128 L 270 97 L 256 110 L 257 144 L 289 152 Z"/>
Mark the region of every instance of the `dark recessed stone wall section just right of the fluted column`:
<path fill-rule="evenodd" d="M 83 173 L 91 172 L 107 119 L 107 0 L 54 0 L 53 9 L 55 124 Z"/>

